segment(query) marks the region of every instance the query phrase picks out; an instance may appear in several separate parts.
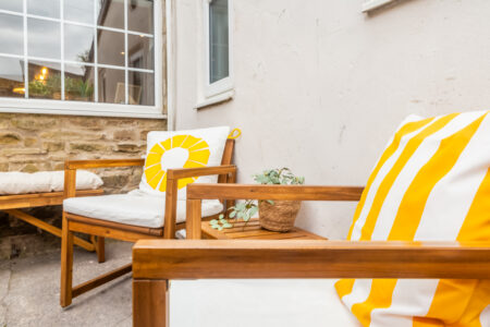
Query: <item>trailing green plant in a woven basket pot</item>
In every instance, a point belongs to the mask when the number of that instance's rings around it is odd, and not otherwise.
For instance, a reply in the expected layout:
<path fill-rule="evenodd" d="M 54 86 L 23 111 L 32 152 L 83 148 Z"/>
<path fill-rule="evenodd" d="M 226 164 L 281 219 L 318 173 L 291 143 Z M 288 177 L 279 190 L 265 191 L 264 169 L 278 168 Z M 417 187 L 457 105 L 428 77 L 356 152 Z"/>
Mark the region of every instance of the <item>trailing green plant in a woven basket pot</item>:
<path fill-rule="evenodd" d="M 254 180 L 260 184 L 296 185 L 304 184 L 305 178 L 296 177 L 289 168 L 266 170 L 262 173 L 255 174 Z M 297 213 L 301 208 L 299 201 L 246 201 L 231 207 L 229 218 L 242 219 L 248 222 L 257 213 L 259 214 L 259 223 L 262 228 L 286 232 L 294 227 Z M 220 215 L 220 219 L 211 220 L 211 227 L 222 230 L 232 228 L 233 223 Z"/>

